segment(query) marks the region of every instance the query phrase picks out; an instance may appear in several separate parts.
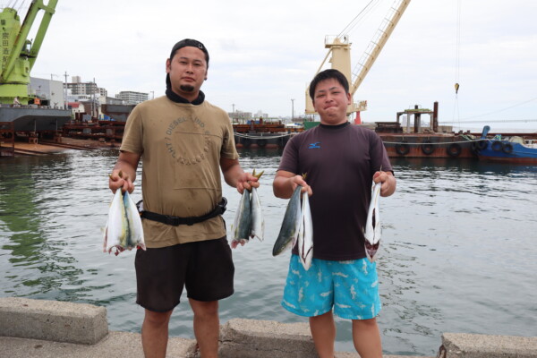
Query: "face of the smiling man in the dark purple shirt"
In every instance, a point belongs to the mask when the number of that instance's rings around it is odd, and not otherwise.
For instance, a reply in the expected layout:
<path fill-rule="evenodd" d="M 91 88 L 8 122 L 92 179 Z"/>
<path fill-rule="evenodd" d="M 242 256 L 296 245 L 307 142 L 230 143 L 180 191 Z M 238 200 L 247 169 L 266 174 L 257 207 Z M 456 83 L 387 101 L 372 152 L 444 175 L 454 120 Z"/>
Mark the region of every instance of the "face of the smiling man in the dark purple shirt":
<path fill-rule="evenodd" d="M 346 108 L 351 95 L 336 79 L 320 81 L 313 94 L 313 108 L 320 115 L 321 124 L 343 124 L 347 121 Z"/>

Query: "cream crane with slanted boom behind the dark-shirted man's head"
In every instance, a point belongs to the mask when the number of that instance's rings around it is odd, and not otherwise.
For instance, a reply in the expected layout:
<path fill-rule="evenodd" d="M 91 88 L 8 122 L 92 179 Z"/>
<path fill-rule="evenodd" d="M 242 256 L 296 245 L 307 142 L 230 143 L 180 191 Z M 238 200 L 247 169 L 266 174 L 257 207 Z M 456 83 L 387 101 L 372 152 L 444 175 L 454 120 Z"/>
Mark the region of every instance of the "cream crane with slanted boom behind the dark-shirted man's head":
<path fill-rule="evenodd" d="M 357 113 L 355 124 L 360 124 L 360 112 L 367 109 L 367 101 L 362 100 L 358 103 L 354 103 L 354 92 L 358 90 L 358 87 L 362 83 L 367 73 L 371 70 L 371 66 L 375 63 L 377 57 L 379 57 L 380 51 L 388 41 L 388 38 L 396 28 L 397 22 L 405 13 L 406 7 L 410 4 L 410 0 L 395 0 L 392 6 L 388 10 L 388 14 L 380 24 L 379 30 L 375 33 L 369 46 L 366 48 L 358 64 L 354 66 L 353 72 L 351 72 L 351 43 L 349 42 L 349 36 L 345 33 L 345 30 L 337 36 L 327 36 L 325 38 L 325 48 L 328 48 L 328 53 L 319 66 L 317 73 L 327 62 L 328 56 L 332 55 L 329 62 L 332 64 L 333 69 L 345 74 L 347 81 L 349 81 L 349 93 L 351 94 L 351 104 L 347 107 L 347 115 Z M 349 26 L 347 26 L 348 28 Z M 346 28 L 345 28 L 346 29 Z M 313 102 L 309 95 L 310 89 L 306 88 L 306 114 L 315 114 L 313 108 Z"/>

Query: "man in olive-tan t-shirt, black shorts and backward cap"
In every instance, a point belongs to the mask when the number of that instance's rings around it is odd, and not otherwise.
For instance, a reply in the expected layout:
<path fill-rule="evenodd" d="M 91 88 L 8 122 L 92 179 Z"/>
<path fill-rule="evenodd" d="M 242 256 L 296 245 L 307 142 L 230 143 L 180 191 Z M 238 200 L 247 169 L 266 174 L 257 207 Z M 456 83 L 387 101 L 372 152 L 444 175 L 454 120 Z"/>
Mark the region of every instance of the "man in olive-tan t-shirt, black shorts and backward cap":
<path fill-rule="evenodd" d="M 175 223 L 215 212 L 222 199 L 220 170 L 238 192 L 259 186 L 239 165 L 226 113 L 210 105 L 200 90 L 208 68 L 209 52 L 202 43 L 185 38 L 175 44 L 166 60 L 166 97 L 134 108 L 108 183 L 113 192 L 132 192 L 142 159 L 147 251 L 136 252 L 135 267 L 136 302 L 145 309 L 141 341 L 146 357 L 166 356 L 168 323 L 183 286 L 201 356 L 217 357 L 218 300 L 234 292 L 224 220 L 217 215 L 192 225 Z"/>

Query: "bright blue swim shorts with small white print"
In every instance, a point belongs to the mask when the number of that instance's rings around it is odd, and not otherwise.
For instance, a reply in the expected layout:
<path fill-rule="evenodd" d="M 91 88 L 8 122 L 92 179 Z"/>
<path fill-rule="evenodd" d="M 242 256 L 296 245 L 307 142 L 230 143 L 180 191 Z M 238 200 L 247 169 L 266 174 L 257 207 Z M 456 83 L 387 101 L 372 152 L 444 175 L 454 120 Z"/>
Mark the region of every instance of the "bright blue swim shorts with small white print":
<path fill-rule="evenodd" d="M 313 259 L 305 270 L 291 255 L 282 306 L 294 314 L 314 317 L 332 308 L 347 320 L 370 320 L 379 314 L 377 264 L 361 260 Z"/>

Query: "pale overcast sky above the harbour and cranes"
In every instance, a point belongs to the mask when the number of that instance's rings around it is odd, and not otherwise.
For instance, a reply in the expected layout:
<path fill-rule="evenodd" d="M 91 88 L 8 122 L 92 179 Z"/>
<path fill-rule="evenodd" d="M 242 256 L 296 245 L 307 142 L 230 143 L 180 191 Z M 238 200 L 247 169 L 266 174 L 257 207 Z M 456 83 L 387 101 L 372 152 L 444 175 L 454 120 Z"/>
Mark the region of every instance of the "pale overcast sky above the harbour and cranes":
<path fill-rule="evenodd" d="M 303 115 L 305 90 L 327 55 L 325 37 L 370 3 L 59 0 L 31 75 L 95 79 L 110 97 L 121 90 L 158 97 L 171 48 L 196 38 L 209 49 L 201 89 L 209 102 L 227 112 Z M 392 4 L 372 1 L 347 32 L 352 67 Z M 535 19 L 533 0 L 412 0 L 354 95 L 368 101 L 362 121 L 395 121 L 396 112 L 438 101 L 440 124 L 537 131 Z"/>

